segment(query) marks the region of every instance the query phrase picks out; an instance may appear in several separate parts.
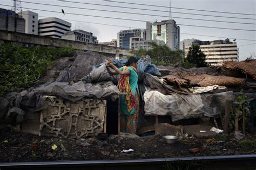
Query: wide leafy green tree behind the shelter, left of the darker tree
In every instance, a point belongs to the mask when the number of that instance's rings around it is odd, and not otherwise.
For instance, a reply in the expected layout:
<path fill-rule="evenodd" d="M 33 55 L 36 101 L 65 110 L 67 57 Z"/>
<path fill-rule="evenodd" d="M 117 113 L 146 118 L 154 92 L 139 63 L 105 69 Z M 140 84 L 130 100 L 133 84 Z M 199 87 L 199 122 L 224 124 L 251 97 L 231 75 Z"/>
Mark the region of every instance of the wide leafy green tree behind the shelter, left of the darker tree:
<path fill-rule="evenodd" d="M 147 51 L 140 49 L 136 51 L 136 55 L 139 57 L 149 55 L 152 59 L 152 63 L 156 65 L 171 66 L 177 62 L 181 63 L 183 61 L 183 51 L 173 51 L 166 45 L 151 44 L 153 49 Z"/>

